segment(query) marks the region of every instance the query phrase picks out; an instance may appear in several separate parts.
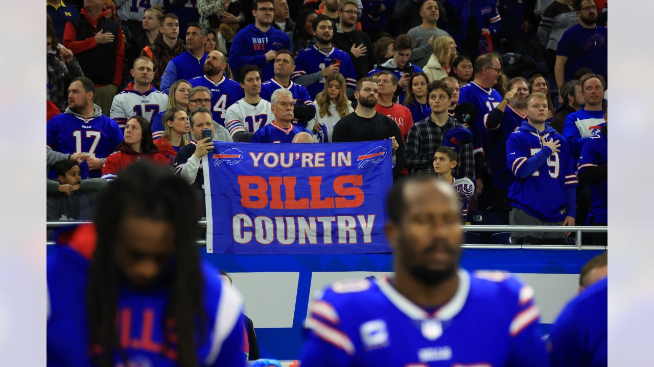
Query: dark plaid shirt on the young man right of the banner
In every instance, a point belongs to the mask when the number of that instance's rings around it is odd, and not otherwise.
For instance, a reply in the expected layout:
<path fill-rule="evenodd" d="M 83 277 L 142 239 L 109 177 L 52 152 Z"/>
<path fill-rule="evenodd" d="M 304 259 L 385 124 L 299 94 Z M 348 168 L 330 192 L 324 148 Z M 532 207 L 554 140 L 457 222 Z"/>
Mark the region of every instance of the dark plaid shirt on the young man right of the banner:
<path fill-rule="evenodd" d="M 405 150 L 406 166 L 412 168 L 412 174 L 435 173 L 434 153 L 441 146 L 445 133 L 455 127 L 464 126 L 452 116 L 449 116 L 442 127 L 436 125 L 431 115 L 413 124 L 407 135 Z M 457 155 L 458 164 L 454 168 L 453 176 L 456 178 L 467 177 L 474 182 L 475 159 L 472 155 L 472 143 L 463 144 Z"/>

